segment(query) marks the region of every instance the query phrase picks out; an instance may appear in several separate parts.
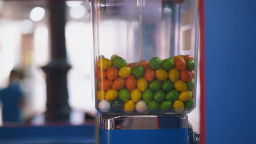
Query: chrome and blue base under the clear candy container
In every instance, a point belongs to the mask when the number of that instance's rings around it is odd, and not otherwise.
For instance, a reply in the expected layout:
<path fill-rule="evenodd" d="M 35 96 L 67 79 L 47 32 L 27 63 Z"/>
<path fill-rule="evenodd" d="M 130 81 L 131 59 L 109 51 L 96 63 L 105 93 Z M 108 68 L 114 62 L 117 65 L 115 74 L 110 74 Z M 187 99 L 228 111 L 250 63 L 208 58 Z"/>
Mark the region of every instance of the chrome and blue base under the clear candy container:
<path fill-rule="evenodd" d="M 98 115 L 98 143 L 199 144 L 188 116 L 184 115 Z"/>

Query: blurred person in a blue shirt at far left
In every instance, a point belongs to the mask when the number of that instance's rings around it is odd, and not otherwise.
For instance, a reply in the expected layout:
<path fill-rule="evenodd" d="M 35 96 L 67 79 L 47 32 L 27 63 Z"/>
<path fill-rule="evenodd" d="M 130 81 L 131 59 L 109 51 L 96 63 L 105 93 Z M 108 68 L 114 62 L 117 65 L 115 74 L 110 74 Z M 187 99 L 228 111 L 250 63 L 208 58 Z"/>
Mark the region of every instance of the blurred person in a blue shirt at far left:
<path fill-rule="evenodd" d="M 0 90 L 4 124 L 21 122 L 21 107 L 23 105 L 22 95 L 20 74 L 16 70 L 11 70 L 8 87 Z"/>

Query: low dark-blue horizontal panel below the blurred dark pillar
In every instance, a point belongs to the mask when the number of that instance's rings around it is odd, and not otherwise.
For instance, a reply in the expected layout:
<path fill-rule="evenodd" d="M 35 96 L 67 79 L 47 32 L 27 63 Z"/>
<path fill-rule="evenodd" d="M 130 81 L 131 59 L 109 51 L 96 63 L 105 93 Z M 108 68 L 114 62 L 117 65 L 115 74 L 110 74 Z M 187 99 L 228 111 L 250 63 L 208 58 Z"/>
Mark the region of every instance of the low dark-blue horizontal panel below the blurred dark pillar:
<path fill-rule="evenodd" d="M 1 127 L 0 143 L 95 143 L 95 126 Z"/>

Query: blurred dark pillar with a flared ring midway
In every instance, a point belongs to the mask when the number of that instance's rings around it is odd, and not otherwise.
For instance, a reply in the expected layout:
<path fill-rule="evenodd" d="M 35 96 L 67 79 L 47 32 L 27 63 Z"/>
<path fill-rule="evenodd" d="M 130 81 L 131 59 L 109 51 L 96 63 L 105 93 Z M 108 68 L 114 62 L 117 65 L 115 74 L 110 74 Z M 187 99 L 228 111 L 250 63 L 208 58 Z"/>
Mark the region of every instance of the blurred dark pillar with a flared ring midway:
<path fill-rule="evenodd" d="M 51 62 L 42 67 L 46 74 L 45 120 L 68 121 L 67 71 L 71 66 L 66 61 L 65 46 L 65 1 L 48 1 L 50 11 Z"/>

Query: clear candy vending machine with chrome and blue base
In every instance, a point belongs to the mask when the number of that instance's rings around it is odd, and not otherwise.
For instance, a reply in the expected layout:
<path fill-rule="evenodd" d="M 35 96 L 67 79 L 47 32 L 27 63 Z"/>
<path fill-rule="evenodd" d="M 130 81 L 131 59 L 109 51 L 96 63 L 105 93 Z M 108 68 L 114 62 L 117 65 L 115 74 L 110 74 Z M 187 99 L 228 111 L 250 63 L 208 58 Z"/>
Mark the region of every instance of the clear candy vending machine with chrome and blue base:
<path fill-rule="evenodd" d="M 199 143 L 197 0 L 92 0 L 98 143 Z"/>

